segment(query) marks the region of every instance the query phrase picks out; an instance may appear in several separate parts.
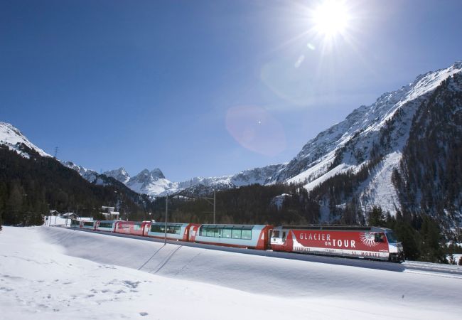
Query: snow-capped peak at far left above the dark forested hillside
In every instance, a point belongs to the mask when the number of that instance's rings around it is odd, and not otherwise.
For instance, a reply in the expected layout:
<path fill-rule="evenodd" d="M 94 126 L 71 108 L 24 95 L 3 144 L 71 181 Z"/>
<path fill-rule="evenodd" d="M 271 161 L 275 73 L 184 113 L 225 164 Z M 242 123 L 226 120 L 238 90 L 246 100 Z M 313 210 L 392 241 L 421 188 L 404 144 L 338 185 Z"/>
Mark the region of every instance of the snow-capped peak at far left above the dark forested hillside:
<path fill-rule="evenodd" d="M 41 156 L 50 156 L 42 149 L 38 148 L 35 144 L 32 144 L 24 135 L 16 129 L 13 125 L 0 122 L 0 144 L 8 146 L 10 150 L 16 151 L 21 156 L 29 157 L 27 151 L 24 151 L 22 145 L 37 151 Z"/>

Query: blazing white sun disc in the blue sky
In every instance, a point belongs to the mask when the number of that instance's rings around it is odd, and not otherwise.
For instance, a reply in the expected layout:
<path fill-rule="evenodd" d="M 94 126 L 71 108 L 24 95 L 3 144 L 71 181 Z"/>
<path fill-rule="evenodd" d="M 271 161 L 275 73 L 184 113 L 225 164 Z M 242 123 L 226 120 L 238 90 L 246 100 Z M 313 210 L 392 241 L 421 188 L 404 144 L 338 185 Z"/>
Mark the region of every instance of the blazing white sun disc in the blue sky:
<path fill-rule="evenodd" d="M 344 1 L 323 1 L 312 14 L 316 33 L 331 38 L 337 34 L 345 33 L 348 28 L 350 14 Z"/>

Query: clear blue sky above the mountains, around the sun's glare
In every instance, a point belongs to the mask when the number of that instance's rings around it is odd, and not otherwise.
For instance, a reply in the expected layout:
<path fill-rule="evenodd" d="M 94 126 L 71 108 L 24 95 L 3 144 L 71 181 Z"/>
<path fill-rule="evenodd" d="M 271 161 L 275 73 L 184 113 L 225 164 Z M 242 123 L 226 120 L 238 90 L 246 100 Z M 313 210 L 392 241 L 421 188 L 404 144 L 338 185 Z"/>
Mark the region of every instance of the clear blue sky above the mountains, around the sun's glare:
<path fill-rule="evenodd" d="M 0 0 L 0 121 L 58 158 L 172 181 L 291 160 L 303 144 L 462 59 L 462 1 Z M 328 48 L 326 48 L 328 47 Z"/>

